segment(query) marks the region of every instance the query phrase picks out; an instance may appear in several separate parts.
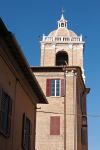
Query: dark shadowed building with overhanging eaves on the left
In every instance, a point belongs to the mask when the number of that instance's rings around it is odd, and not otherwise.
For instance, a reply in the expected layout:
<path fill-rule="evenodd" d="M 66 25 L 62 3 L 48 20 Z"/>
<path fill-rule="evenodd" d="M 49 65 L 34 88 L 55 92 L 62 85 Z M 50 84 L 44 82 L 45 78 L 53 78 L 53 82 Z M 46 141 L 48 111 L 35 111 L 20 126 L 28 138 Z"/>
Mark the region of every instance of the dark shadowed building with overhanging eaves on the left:
<path fill-rule="evenodd" d="M 0 150 L 35 150 L 37 103 L 46 98 L 0 19 Z"/>

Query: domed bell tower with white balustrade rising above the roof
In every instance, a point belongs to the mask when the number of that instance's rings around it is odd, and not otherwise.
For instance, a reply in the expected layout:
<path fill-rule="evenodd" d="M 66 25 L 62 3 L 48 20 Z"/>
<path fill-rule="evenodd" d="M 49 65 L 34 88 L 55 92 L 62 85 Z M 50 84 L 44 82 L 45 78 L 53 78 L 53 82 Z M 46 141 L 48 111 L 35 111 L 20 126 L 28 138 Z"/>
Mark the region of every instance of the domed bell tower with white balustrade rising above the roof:
<path fill-rule="evenodd" d="M 81 67 L 83 78 L 83 53 L 84 41 L 82 35 L 68 29 L 67 20 L 62 11 L 61 19 L 58 21 L 58 28 L 43 35 L 41 43 L 41 66 L 79 66 Z"/>

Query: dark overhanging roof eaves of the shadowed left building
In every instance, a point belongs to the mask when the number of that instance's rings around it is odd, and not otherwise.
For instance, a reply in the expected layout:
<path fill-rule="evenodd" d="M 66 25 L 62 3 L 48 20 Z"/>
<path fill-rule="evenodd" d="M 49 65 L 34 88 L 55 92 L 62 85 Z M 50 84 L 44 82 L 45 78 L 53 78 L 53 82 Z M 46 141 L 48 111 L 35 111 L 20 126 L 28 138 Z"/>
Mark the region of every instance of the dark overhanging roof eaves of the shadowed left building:
<path fill-rule="evenodd" d="M 28 81 L 30 87 L 36 93 L 39 99 L 38 103 L 47 103 L 47 99 L 41 87 L 39 86 L 39 83 L 37 82 L 35 76 L 33 75 L 30 66 L 26 61 L 20 47 L 18 46 L 16 39 L 14 38 L 12 33 L 7 30 L 1 18 L 0 18 L 0 36 L 2 36 L 2 38 L 6 42 L 8 48 L 10 47 L 9 52 L 14 57 L 18 66 L 21 68 L 23 75 Z"/>

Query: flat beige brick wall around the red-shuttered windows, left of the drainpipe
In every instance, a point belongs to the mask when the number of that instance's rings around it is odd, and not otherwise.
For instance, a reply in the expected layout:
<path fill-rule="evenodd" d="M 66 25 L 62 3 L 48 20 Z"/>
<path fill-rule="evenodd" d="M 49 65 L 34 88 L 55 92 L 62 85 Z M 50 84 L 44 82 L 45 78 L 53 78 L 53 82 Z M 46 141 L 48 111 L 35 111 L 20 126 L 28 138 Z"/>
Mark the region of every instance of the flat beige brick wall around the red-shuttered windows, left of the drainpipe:
<path fill-rule="evenodd" d="M 47 78 L 62 78 L 63 73 L 35 73 L 37 80 L 46 94 Z M 36 150 L 61 150 L 64 141 L 64 98 L 63 97 L 47 97 L 49 104 L 37 105 L 36 120 Z M 60 136 L 50 135 L 50 116 L 60 116 Z"/>

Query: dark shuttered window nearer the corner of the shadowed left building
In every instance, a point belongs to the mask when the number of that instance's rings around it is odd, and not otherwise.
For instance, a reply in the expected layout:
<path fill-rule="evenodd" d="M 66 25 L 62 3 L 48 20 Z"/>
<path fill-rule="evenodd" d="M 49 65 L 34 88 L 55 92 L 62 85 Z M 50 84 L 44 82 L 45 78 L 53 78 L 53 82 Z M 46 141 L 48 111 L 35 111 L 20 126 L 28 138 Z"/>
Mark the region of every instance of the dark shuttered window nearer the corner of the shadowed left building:
<path fill-rule="evenodd" d="M 31 149 L 31 121 L 25 114 L 23 115 L 22 144 L 24 150 Z"/>

